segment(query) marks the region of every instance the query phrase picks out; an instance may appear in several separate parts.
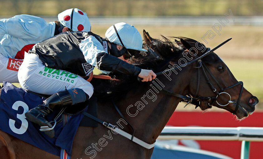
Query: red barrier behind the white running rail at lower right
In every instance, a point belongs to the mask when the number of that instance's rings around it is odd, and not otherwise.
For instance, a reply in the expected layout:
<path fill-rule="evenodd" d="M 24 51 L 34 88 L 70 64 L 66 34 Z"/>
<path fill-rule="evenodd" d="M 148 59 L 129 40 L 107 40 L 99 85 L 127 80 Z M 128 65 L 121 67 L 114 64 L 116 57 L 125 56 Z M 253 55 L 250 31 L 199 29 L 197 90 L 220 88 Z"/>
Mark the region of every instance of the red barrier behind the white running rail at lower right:
<path fill-rule="evenodd" d="M 263 127 L 263 112 L 255 112 L 243 120 L 237 120 L 229 112 L 174 112 L 167 126 L 205 126 L 205 127 Z M 187 144 L 189 143 L 189 144 Z M 202 150 L 217 152 L 235 159 L 240 158 L 241 141 L 204 141 L 196 143 L 179 141 L 178 144 L 195 145 Z M 250 142 L 250 158 L 257 159 L 263 156 L 263 142 Z"/>

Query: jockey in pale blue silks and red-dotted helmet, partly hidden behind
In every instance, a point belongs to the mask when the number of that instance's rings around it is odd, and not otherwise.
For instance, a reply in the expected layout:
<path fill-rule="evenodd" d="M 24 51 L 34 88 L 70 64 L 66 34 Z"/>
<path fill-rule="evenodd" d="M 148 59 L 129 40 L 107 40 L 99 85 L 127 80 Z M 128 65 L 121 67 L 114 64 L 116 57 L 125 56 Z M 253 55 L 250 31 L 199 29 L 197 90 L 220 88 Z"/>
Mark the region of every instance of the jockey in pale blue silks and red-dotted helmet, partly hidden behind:
<path fill-rule="evenodd" d="M 72 17 L 73 14 L 73 18 Z M 68 30 L 90 31 L 90 21 L 80 9 L 58 14 L 59 21 L 47 23 L 33 15 L 16 15 L 0 19 L 0 82 L 18 82 L 18 69 L 36 43 Z"/>

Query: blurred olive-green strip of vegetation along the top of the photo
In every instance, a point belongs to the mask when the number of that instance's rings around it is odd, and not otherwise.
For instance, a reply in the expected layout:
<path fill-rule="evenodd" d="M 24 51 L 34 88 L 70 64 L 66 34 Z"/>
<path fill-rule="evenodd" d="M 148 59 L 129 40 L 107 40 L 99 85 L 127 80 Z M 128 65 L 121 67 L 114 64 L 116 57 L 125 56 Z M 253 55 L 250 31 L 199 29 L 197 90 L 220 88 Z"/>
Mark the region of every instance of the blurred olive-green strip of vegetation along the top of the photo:
<path fill-rule="evenodd" d="M 263 15 L 262 0 L 1 0 L 0 15 L 56 15 L 80 8 L 94 16 Z"/>

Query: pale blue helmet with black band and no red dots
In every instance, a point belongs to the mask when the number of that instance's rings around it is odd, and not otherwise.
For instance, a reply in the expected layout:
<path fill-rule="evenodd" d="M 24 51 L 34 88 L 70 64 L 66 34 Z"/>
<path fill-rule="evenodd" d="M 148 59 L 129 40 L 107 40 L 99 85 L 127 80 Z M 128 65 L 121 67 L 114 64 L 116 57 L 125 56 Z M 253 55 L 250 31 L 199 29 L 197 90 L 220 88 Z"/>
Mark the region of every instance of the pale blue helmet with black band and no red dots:
<path fill-rule="evenodd" d="M 105 37 L 111 43 L 115 43 L 121 46 L 124 45 L 123 47 L 125 47 L 126 49 L 147 52 L 147 50 L 142 49 L 142 36 L 133 25 L 129 25 L 123 22 L 114 24 L 106 31 Z M 121 42 L 123 43 L 123 45 L 121 44 Z"/>

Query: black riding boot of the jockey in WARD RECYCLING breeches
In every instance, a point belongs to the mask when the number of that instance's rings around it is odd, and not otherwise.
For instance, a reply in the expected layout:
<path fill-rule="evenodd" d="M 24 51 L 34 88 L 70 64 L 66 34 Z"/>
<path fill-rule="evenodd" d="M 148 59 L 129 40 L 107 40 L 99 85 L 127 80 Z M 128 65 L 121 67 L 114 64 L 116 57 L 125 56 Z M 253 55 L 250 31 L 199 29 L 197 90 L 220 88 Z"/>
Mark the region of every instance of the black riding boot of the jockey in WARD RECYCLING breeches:
<path fill-rule="evenodd" d="M 52 113 L 55 109 L 62 109 L 63 106 L 69 106 L 72 104 L 72 99 L 68 90 L 60 91 L 47 98 L 44 103 L 29 110 L 25 113 L 26 118 L 40 126 L 52 125 L 47 121 L 46 116 Z"/>

